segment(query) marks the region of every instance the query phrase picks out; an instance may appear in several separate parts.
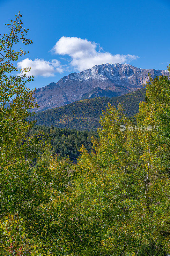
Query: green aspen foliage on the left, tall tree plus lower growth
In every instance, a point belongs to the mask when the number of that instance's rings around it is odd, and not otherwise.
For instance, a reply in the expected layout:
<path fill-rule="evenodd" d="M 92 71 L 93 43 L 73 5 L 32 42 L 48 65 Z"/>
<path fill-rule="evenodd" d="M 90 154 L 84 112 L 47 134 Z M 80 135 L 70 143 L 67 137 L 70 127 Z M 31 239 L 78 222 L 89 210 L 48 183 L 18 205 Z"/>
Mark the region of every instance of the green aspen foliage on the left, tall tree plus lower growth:
<path fill-rule="evenodd" d="M 34 122 L 26 118 L 37 106 L 34 92 L 26 88 L 32 78 L 26 77 L 26 70 L 11 76 L 23 53 L 13 44 L 31 42 L 24 37 L 21 16 L 7 24 L 10 32 L 0 41 L 5 53 L 0 59 L 0 255 L 66 255 L 82 250 L 93 231 L 70 204 L 71 180 L 77 175 L 70 160 L 51 155 L 43 131 L 28 136 Z"/>

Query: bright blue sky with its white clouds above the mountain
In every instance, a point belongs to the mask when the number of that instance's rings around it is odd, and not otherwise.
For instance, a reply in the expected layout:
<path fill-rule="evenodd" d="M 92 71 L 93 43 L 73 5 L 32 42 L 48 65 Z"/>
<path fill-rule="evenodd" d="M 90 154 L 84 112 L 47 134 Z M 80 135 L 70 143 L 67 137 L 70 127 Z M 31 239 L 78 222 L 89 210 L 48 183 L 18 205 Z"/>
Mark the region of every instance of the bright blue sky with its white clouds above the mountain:
<path fill-rule="evenodd" d="M 32 67 L 29 88 L 95 64 L 167 69 L 170 63 L 170 0 L 0 0 L 0 11 L 0 33 L 18 11 L 29 28 L 33 44 L 18 63 Z"/>

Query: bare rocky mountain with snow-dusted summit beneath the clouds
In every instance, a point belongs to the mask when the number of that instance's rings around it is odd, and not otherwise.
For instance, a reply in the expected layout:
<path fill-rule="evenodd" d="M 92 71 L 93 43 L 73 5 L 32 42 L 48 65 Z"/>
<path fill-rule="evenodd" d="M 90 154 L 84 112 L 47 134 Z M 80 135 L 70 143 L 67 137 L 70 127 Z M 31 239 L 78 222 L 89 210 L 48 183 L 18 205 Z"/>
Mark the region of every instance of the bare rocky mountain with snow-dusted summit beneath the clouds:
<path fill-rule="evenodd" d="M 40 105 L 38 111 L 80 100 L 83 94 L 90 98 L 95 95 L 96 97 L 105 96 L 109 93 L 110 97 L 113 97 L 112 95 L 122 95 L 143 88 L 143 84 L 148 82 L 148 73 L 152 78 L 161 75 L 169 76 L 168 70 L 142 69 L 129 64 L 95 65 L 80 73 L 71 73 L 57 83 L 50 83 L 36 90 L 35 97 Z M 34 111 L 37 110 L 34 109 Z"/>

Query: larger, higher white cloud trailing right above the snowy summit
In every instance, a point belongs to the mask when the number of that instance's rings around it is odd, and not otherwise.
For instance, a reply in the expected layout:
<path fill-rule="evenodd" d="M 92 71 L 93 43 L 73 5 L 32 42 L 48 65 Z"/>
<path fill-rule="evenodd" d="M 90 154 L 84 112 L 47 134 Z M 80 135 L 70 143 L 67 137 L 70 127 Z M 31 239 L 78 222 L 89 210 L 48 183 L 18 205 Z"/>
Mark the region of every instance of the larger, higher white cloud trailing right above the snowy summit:
<path fill-rule="evenodd" d="M 52 51 L 59 55 L 69 55 L 71 57 L 70 65 L 78 71 L 103 63 L 125 63 L 138 58 L 131 54 L 113 55 L 103 51 L 99 44 L 78 37 L 61 37 Z"/>

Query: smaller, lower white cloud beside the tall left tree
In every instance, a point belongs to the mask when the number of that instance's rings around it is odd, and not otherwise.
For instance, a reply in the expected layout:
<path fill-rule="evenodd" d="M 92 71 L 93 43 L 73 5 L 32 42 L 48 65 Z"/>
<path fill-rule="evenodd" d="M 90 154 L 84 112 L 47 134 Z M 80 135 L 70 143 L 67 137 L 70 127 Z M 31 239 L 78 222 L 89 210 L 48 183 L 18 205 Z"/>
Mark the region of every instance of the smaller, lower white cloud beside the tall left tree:
<path fill-rule="evenodd" d="M 31 68 L 31 71 L 28 73 L 29 76 L 55 76 L 56 72 L 62 73 L 63 68 L 58 60 L 43 60 L 35 59 L 29 60 L 26 58 L 17 63 L 18 68 Z"/>

